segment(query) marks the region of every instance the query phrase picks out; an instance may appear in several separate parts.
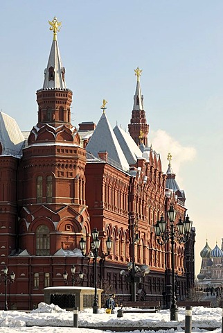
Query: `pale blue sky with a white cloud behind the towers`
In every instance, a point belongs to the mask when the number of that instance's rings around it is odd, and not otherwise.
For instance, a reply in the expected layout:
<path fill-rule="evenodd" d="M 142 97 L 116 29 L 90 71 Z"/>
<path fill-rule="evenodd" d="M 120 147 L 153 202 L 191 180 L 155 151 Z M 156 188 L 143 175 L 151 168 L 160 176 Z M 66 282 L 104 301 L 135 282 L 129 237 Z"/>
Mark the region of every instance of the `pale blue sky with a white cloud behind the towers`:
<path fill-rule="evenodd" d="M 37 123 L 35 92 L 43 85 L 54 15 L 62 21 L 58 42 L 75 126 L 97 123 L 106 99 L 111 126 L 127 128 L 134 69 L 143 69 L 149 142 L 163 153 L 164 172 L 172 152 L 186 191 L 197 230 L 196 273 L 206 237 L 211 248 L 223 237 L 222 13 L 220 0 L 1 1 L 0 108 L 21 130 Z"/>

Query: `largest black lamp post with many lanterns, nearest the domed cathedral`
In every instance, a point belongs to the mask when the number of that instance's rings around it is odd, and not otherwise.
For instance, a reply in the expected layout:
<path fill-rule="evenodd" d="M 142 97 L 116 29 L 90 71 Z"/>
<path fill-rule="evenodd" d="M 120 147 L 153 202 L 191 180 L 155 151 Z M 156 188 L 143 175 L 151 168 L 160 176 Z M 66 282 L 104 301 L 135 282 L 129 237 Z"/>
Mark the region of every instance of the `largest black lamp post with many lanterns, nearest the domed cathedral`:
<path fill-rule="evenodd" d="M 189 220 L 189 217 L 186 216 L 184 222 L 179 219 L 177 226 L 175 226 L 176 211 L 172 205 L 170 205 L 170 210 L 168 210 L 167 213 L 170 221 L 170 230 L 166 230 L 167 223 L 164 221 L 163 216 L 161 216 L 160 221 L 157 221 L 154 225 L 154 232 L 160 245 L 166 244 L 170 240 L 172 266 L 172 303 L 170 307 L 170 321 L 177 321 L 178 309 L 175 292 L 175 239 L 179 241 L 179 243 L 186 243 L 186 241 L 190 238 L 190 228 L 192 222 Z"/>

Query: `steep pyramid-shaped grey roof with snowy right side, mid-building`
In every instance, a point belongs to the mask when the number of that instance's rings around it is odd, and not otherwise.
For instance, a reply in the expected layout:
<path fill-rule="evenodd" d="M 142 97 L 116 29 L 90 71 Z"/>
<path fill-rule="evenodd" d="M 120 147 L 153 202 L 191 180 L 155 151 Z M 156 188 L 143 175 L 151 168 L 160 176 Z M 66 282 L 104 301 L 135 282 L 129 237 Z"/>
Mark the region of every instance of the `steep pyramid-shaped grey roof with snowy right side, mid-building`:
<path fill-rule="evenodd" d="M 98 125 L 87 144 L 86 150 L 94 156 L 98 156 L 100 151 L 107 151 L 108 157 L 111 158 L 111 160 L 120 164 L 125 170 L 130 169 L 105 113 L 100 117 Z"/>

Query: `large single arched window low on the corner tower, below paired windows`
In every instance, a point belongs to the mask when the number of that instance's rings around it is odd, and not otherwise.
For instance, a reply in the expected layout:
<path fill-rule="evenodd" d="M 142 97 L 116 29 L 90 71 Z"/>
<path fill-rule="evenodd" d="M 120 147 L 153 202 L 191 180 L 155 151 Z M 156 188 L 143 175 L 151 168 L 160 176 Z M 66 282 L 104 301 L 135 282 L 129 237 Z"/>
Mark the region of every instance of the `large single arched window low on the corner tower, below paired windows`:
<path fill-rule="evenodd" d="M 50 255 L 50 230 L 46 225 L 37 228 L 36 242 L 36 255 Z"/>

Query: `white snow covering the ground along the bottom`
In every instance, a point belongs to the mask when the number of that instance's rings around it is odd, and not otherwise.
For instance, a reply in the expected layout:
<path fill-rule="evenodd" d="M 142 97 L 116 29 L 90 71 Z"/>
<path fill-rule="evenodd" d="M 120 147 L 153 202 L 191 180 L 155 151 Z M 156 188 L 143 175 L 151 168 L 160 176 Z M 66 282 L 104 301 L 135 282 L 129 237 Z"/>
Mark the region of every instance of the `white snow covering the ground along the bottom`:
<path fill-rule="evenodd" d="M 119 309 L 119 308 L 118 308 Z M 60 309 L 57 305 L 39 303 L 38 309 L 29 313 L 21 311 L 0 311 L 0 333 L 32 332 L 32 333 L 102 333 L 112 327 L 125 328 L 125 332 L 134 333 L 178 333 L 184 332 L 185 309 L 179 308 L 178 321 L 170 321 L 170 311 L 161 310 L 157 313 L 125 313 L 123 317 L 105 314 L 100 309 L 99 314 L 93 314 L 92 309 L 84 309 L 78 313 L 78 325 L 73 326 L 73 311 Z M 222 309 L 194 307 L 193 333 L 213 332 L 221 333 Z M 98 330 L 94 328 L 97 327 Z M 157 328 L 160 330 L 157 330 Z M 205 330 L 205 329 L 208 329 Z"/>

